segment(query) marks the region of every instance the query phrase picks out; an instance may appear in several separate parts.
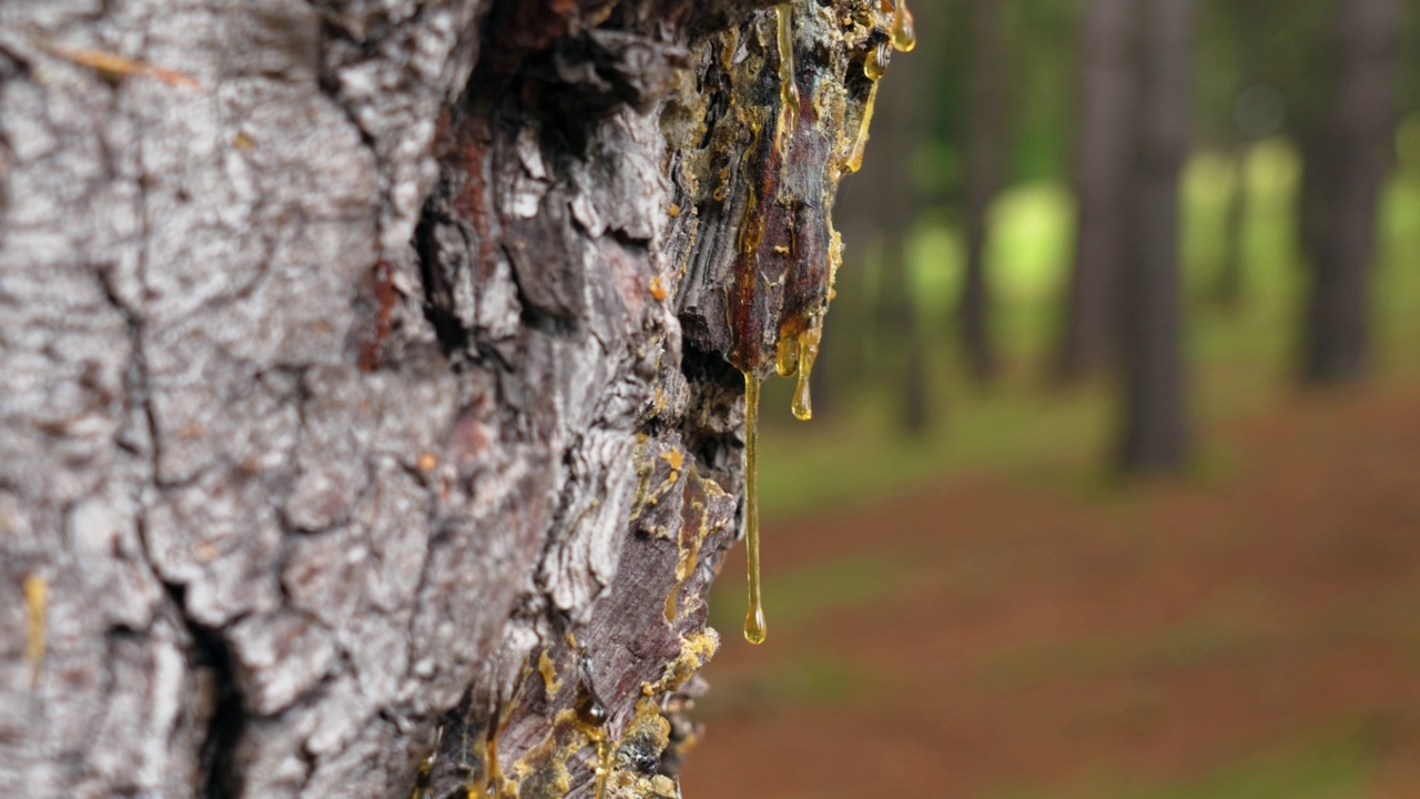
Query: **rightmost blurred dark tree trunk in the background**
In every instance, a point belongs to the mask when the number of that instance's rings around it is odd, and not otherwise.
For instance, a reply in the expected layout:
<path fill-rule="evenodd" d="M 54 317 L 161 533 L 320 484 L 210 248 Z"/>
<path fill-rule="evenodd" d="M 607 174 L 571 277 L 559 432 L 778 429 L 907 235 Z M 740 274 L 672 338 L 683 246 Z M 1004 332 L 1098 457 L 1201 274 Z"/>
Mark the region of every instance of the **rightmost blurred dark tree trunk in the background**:
<path fill-rule="evenodd" d="M 1339 4 L 1331 118 L 1323 144 L 1306 149 L 1306 171 L 1325 189 L 1308 196 L 1306 382 L 1355 382 L 1366 372 L 1366 286 L 1376 256 L 1376 208 L 1392 161 L 1403 11 L 1400 0 Z"/>

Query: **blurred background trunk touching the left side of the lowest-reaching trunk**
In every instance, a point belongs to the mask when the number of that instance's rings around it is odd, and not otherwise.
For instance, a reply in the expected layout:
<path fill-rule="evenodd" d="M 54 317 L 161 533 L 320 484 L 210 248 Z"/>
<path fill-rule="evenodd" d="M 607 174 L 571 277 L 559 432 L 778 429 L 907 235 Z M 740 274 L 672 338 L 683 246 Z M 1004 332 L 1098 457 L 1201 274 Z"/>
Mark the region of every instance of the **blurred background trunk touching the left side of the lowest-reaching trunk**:
<path fill-rule="evenodd" d="M 1091 0 L 1082 51 L 1076 165 L 1078 220 L 1065 330 L 1056 357 L 1062 381 L 1109 364 L 1116 353 L 1118 274 L 1129 213 L 1129 136 L 1137 90 L 1130 61 L 1137 0 Z"/>

